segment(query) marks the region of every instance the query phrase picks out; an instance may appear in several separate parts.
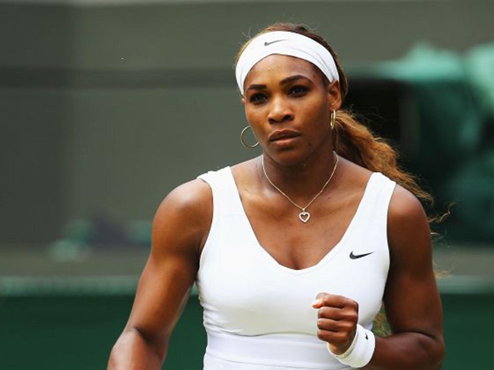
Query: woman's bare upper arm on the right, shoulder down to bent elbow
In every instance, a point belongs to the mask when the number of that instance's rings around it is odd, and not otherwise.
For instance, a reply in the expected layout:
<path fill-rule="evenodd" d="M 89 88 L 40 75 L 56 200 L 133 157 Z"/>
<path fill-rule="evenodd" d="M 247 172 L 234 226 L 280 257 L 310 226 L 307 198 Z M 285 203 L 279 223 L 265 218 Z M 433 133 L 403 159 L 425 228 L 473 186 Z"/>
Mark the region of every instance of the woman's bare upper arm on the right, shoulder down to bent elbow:
<path fill-rule="evenodd" d="M 388 213 L 390 270 L 384 305 L 393 333 L 442 340 L 442 308 L 432 264 L 430 229 L 420 202 L 397 186 Z"/>

